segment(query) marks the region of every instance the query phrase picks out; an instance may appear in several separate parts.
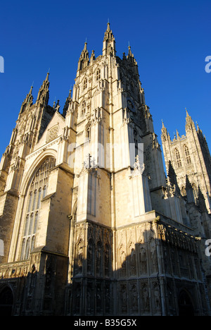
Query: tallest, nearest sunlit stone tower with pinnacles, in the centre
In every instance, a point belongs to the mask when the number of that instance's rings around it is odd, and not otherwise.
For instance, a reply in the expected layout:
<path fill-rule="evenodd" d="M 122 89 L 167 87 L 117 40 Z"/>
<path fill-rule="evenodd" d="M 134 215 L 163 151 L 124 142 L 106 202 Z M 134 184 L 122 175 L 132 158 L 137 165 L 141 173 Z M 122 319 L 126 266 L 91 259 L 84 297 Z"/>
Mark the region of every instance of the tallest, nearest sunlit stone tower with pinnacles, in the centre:
<path fill-rule="evenodd" d="M 115 292 L 126 294 L 114 280 L 138 271 L 134 263 L 136 240 L 143 235 L 140 223 L 155 219 L 155 208 L 165 212 L 165 204 L 158 202 L 165 187 L 162 155 L 138 66 L 131 47 L 127 56 L 116 56 L 109 23 L 101 56 L 95 58 L 92 51 L 89 57 L 84 44 L 66 122 L 73 113 L 68 312 L 109 314 L 116 308 Z M 155 245 L 151 249 L 155 253 Z M 126 266 L 128 257 L 131 268 Z M 124 300 L 120 310 L 126 305 Z"/>

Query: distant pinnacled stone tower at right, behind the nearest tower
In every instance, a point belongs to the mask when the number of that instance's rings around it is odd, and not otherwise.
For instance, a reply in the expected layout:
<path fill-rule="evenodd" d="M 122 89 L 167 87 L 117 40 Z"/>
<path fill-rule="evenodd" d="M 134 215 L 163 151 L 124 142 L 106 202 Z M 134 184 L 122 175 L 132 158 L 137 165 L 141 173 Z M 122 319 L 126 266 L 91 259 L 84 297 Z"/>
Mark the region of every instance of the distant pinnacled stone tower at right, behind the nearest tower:
<path fill-rule="evenodd" d="M 198 198 L 198 189 L 205 198 L 208 212 L 210 213 L 211 196 L 211 157 L 207 146 L 207 141 L 202 130 L 197 128 L 191 116 L 186 110 L 186 135 L 174 135 L 174 140 L 170 139 L 164 123 L 162 123 L 162 148 L 164 152 L 165 165 L 168 169 L 169 161 L 177 174 L 177 182 L 181 194 L 186 196 L 186 176 L 190 181 L 195 201 Z"/>

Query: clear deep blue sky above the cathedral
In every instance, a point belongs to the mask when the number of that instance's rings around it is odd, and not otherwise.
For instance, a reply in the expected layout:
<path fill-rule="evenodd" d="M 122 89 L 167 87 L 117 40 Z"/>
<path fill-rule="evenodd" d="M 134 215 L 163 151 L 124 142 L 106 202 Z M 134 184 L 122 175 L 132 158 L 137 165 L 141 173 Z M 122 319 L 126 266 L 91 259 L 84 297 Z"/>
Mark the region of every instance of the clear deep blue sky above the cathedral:
<path fill-rule="evenodd" d="M 0 157 L 32 83 L 35 102 L 50 68 L 49 104 L 63 109 L 84 42 L 101 55 L 108 19 L 117 56 L 132 47 L 160 143 L 162 120 L 185 134 L 186 108 L 211 149 L 210 15 L 210 0 L 1 1 Z"/>

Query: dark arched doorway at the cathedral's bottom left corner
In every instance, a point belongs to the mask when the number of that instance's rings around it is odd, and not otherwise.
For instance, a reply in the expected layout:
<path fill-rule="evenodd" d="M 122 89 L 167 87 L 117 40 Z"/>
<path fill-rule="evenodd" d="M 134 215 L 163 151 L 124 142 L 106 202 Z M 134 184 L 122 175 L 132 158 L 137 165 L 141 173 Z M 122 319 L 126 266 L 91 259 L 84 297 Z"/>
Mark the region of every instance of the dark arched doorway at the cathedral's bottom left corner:
<path fill-rule="evenodd" d="M 12 316 L 13 291 L 9 286 L 0 290 L 0 316 Z"/>

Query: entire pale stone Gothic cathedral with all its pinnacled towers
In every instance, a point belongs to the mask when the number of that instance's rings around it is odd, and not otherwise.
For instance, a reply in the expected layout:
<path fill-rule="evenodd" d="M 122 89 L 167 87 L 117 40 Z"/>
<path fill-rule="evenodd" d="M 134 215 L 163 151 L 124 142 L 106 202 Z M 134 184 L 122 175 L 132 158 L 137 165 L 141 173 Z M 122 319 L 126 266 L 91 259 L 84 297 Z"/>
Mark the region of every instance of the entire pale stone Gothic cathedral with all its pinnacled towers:
<path fill-rule="evenodd" d="M 162 160 L 128 48 L 108 23 L 63 109 L 49 73 L 20 107 L 0 163 L 1 315 L 211 315 L 207 142 L 188 110 L 186 135 L 162 123 Z"/>

